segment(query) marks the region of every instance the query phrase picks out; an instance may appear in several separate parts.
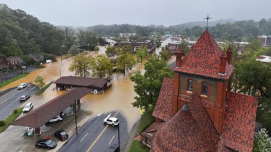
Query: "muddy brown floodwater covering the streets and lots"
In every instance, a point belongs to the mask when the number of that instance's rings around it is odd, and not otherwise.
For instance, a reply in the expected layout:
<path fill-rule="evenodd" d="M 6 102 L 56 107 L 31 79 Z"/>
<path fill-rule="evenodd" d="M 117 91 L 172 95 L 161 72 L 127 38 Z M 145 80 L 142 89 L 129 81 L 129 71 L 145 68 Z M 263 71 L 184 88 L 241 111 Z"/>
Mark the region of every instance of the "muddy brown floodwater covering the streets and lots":
<path fill-rule="evenodd" d="M 104 48 L 101 48 L 99 53 L 90 53 L 90 55 L 103 53 Z M 51 81 L 56 81 L 56 79 L 58 79 L 60 76 L 74 75 L 74 73 L 68 70 L 69 65 L 73 60 L 72 57 L 63 59 L 63 61 L 60 61 L 60 57 L 57 57 L 57 60 L 58 61 L 56 62 L 46 64 L 45 68 L 34 70 L 33 72 L 26 75 L 26 77 L 23 77 L 22 79 L 19 79 L 0 88 L 0 91 L 16 87 L 23 82 L 33 83 L 37 75 L 43 77 L 45 84 L 48 84 Z M 144 73 L 143 66 L 138 64 L 135 69 L 131 70 L 129 77 L 136 70 L 141 70 L 141 72 Z M 100 113 L 117 111 L 120 109 L 126 117 L 126 121 L 128 122 L 128 129 L 130 131 L 133 123 L 136 122 L 136 120 L 138 120 L 140 117 L 139 109 L 134 108 L 131 104 L 135 101 L 133 97 L 136 96 L 135 91 L 133 91 L 133 85 L 134 83 L 131 82 L 129 78 L 126 79 L 123 73 L 114 73 L 112 86 L 102 94 L 89 93 L 88 95 L 85 95 L 85 97 L 81 99 L 81 109 L 84 111 L 90 111 L 92 115 L 99 115 Z M 35 107 L 48 102 L 50 99 L 53 99 L 62 93 L 65 93 L 65 91 L 53 90 L 54 87 L 55 84 L 52 84 L 49 88 L 47 88 L 46 91 L 44 91 L 44 93 L 42 93 L 42 95 L 35 95 L 31 98 L 31 102 L 33 102 Z"/>

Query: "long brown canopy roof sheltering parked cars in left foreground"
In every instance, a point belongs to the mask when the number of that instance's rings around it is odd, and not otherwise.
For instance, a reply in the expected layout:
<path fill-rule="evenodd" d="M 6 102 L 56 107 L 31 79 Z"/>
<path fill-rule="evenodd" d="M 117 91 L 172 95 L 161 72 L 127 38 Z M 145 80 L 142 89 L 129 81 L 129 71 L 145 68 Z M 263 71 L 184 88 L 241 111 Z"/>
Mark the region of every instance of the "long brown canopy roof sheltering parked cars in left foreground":
<path fill-rule="evenodd" d="M 35 108 L 26 115 L 19 117 L 19 119 L 12 122 L 11 125 L 39 128 L 89 92 L 90 90 L 88 88 L 73 88 L 51 99 L 46 104 Z"/>

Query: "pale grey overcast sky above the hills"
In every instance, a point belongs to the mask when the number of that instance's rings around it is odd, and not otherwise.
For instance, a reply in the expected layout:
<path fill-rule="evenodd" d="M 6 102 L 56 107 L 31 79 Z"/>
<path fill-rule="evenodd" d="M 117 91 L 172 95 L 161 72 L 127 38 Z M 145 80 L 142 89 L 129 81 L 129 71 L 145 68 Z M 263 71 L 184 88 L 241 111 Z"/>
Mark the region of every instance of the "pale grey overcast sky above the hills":
<path fill-rule="evenodd" d="M 271 18 L 270 0 L 0 0 L 56 26 L 164 25 Z"/>

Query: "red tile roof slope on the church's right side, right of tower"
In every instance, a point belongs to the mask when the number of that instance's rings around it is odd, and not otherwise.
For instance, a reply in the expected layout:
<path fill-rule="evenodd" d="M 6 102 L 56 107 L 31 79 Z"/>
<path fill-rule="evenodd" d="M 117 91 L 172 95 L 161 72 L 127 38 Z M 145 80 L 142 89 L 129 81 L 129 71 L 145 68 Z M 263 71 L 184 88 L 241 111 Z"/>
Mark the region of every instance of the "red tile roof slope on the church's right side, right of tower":
<path fill-rule="evenodd" d="M 225 146 L 237 151 L 252 151 L 257 110 L 255 97 L 226 93 L 222 140 Z"/>

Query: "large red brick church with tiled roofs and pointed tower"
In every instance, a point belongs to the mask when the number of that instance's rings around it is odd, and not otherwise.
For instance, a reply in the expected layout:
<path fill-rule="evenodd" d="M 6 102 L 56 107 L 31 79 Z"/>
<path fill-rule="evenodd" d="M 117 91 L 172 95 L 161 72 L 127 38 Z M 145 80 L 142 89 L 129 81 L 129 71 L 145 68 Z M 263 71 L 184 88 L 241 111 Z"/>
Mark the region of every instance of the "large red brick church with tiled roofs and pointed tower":
<path fill-rule="evenodd" d="M 178 49 L 156 120 L 138 139 L 151 151 L 252 151 L 257 99 L 231 92 L 231 53 L 207 29 L 186 57 Z"/>

